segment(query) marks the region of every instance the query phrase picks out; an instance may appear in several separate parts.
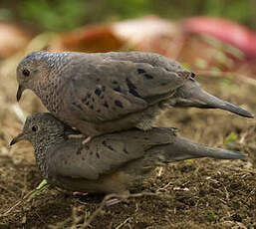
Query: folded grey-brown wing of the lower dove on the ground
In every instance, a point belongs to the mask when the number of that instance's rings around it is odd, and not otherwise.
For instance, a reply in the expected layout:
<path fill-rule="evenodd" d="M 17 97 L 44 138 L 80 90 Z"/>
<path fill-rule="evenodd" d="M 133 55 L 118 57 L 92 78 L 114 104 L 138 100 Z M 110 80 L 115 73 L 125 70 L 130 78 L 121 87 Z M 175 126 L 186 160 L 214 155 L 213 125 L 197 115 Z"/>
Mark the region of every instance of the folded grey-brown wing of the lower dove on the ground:
<path fill-rule="evenodd" d="M 82 140 L 69 139 L 49 153 L 49 169 L 61 176 L 98 179 L 142 157 L 153 145 L 170 143 L 173 135 L 171 129 L 154 128 L 106 134 L 86 145 Z"/>

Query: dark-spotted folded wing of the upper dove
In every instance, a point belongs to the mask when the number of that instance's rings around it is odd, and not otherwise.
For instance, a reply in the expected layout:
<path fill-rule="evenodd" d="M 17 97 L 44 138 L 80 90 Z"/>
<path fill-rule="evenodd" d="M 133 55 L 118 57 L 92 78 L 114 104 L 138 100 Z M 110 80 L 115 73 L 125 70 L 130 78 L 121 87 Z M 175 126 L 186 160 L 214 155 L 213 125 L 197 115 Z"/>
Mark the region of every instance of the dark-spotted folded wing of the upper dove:
<path fill-rule="evenodd" d="M 143 111 L 173 95 L 185 80 L 176 70 L 149 63 L 92 57 L 99 60 L 85 61 L 84 66 L 81 62 L 64 87 L 65 106 L 87 121 L 112 120 Z"/>

